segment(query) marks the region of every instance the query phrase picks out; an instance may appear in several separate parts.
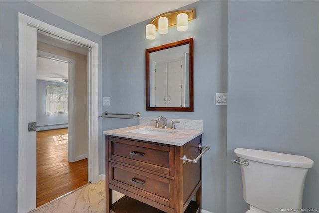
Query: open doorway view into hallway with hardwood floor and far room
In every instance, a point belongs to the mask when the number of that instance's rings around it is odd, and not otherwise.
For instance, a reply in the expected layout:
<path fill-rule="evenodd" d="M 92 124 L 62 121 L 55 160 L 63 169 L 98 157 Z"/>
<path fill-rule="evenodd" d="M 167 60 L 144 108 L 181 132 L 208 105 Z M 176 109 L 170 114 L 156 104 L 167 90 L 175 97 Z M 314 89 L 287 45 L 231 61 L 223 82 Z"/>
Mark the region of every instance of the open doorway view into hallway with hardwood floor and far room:
<path fill-rule="evenodd" d="M 88 182 L 87 52 L 37 31 L 36 207 Z"/>

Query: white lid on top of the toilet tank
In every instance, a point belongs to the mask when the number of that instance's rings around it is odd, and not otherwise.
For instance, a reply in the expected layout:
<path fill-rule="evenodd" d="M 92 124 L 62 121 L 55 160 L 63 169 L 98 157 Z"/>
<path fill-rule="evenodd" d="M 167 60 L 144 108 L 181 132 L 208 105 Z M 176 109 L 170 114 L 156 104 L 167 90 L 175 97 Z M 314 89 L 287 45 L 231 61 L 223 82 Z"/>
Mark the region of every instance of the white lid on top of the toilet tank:
<path fill-rule="evenodd" d="M 234 152 L 240 158 L 273 165 L 300 168 L 312 168 L 314 165 L 313 160 L 300 155 L 290 155 L 278 152 L 245 148 L 237 148 L 234 150 Z"/>

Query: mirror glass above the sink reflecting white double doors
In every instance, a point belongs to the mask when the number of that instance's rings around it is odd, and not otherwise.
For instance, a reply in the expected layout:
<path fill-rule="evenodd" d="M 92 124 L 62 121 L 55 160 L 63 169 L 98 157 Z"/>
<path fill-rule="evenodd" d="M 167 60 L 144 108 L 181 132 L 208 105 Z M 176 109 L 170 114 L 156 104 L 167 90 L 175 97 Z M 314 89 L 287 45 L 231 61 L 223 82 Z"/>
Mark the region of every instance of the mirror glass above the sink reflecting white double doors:
<path fill-rule="evenodd" d="M 151 53 L 151 107 L 188 107 L 188 45 Z"/>

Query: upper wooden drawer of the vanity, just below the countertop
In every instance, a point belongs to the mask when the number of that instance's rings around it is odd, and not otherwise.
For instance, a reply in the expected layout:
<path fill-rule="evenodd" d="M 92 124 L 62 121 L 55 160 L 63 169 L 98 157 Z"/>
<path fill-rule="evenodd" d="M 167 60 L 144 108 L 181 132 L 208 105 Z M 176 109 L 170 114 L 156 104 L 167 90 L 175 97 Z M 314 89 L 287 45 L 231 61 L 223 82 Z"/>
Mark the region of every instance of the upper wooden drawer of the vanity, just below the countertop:
<path fill-rule="evenodd" d="M 109 159 L 173 176 L 174 148 L 109 137 Z"/>

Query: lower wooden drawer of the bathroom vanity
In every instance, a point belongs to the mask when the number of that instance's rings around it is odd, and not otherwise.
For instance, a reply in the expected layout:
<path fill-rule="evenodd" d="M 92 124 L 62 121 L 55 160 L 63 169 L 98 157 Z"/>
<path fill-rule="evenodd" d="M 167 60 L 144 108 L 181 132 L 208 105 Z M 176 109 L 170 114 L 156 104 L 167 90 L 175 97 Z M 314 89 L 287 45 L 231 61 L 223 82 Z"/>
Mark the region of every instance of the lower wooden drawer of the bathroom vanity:
<path fill-rule="evenodd" d="M 115 163 L 109 163 L 109 168 L 110 184 L 165 206 L 173 206 L 173 180 Z"/>

